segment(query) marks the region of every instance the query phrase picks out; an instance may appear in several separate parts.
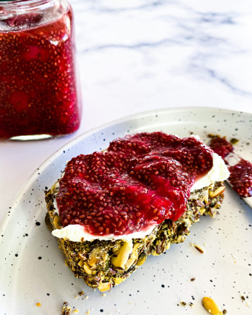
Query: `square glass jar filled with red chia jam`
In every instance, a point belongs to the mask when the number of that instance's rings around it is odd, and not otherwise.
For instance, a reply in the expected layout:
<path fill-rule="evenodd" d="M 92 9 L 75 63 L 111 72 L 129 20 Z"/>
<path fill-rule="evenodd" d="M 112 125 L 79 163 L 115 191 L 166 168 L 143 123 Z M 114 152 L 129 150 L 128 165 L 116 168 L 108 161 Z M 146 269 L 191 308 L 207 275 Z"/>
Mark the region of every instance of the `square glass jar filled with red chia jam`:
<path fill-rule="evenodd" d="M 0 139 L 68 135 L 80 118 L 70 4 L 0 2 Z"/>

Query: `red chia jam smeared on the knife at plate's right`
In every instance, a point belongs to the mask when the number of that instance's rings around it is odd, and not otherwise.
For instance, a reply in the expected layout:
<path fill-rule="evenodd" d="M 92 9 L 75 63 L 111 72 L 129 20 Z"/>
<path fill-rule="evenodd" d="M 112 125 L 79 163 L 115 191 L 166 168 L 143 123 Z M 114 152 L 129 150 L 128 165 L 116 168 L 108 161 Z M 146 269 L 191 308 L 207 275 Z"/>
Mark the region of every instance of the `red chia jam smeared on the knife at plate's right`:
<path fill-rule="evenodd" d="M 229 153 L 234 150 L 231 143 L 225 138 L 213 138 L 210 141 L 210 148 L 219 154 L 227 164 L 230 176 L 228 178 L 234 191 L 240 197 L 252 196 L 252 164 L 249 161 L 240 158 L 240 161 L 233 166 L 228 165 L 225 159 Z"/>

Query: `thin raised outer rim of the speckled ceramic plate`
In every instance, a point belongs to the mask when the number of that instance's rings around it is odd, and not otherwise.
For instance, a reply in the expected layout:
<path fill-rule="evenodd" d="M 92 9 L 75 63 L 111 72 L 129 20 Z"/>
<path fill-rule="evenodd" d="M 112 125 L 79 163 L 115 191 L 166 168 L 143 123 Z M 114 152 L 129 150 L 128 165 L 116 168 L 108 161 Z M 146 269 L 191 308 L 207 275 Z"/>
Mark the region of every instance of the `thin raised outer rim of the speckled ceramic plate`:
<path fill-rule="evenodd" d="M 102 125 L 99 125 L 98 127 L 89 129 L 87 131 L 85 131 L 84 133 L 82 133 L 81 135 L 78 135 L 76 138 L 73 138 L 72 140 L 68 141 L 67 143 L 65 143 L 63 146 L 61 146 L 59 149 L 57 149 L 53 154 L 51 154 L 42 164 L 40 164 L 37 169 L 43 171 L 43 169 L 45 169 L 45 167 L 51 162 L 50 160 L 53 158 L 56 158 L 59 156 L 60 152 L 64 151 L 64 148 L 68 147 L 70 144 L 74 145 L 76 142 L 79 142 L 79 140 L 81 138 L 85 138 L 86 136 L 92 135 L 93 133 L 102 130 L 106 127 L 109 126 L 113 126 L 116 125 L 118 123 L 123 123 L 126 122 L 128 120 L 131 119 L 135 119 L 135 118 L 140 118 L 140 117 L 145 117 L 145 116 L 150 116 L 151 114 L 156 114 L 158 113 L 169 113 L 169 112 L 191 112 L 191 111 L 195 111 L 195 110 L 204 110 L 204 111 L 219 111 L 219 112 L 226 112 L 226 113 L 240 113 L 240 114 L 245 114 L 245 115 L 250 115 L 252 117 L 252 113 L 249 112 L 242 112 L 242 111 L 236 111 L 236 110 L 231 110 L 231 109 L 227 109 L 227 108 L 221 108 L 221 107 L 204 107 L 204 106 L 182 106 L 182 107 L 169 107 L 169 108 L 158 108 L 158 109 L 152 109 L 152 110 L 148 110 L 148 111 L 143 111 L 143 112 L 138 112 L 138 113 L 134 113 L 134 114 L 130 114 L 127 116 L 123 116 L 114 120 L 111 120 L 107 123 L 104 123 Z M 23 184 L 23 186 L 20 188 L 20 190 L 17 192 L 16 196 L 14 197 L 12 203 L 10 204 L 8 209 L 12 209 L 14 203 L 17 202 L 17 200 L 22 196 L 23 191 L 25 190 L 26 186 L 29 186 L 29 184 L 31 183 L 31 181 L 33 181 L 36 177 L 37 177 L 37 169 L 28 177 L 28 179 L 25 181 L 25 183 Z M 0 223 L 0 231 L 4 231 L 5 225 L 8 224 L 8 221 L 11 220 L 13 212 L 11 213 L 11 215 L 7 212 L 4 217 L 2 222 Z"/>

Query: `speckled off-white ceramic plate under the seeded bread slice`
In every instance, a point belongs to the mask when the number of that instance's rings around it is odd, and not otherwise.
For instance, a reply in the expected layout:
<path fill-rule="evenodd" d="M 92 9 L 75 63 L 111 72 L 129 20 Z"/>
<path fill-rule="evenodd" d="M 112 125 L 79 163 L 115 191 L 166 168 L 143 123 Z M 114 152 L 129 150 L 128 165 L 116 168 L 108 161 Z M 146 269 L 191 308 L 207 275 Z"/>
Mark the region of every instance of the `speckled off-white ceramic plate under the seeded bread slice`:
<path fill-rule="evenodd" d="M 106 124 L 61 148 L 29 178 L 1 224 L 0 313 L 56 315 L 61 314 L 65 300 L 79 314 L 89 310 L 95 315 L 203 315 L 208 312 L 202 298 L 210 296 L 227 314 L 251 315 L 252 210 L 229 187 L 216 219 L 202 217 L 184 243 L 171 245 L 159 257 L 149 256 L 130 278 L 106 294 L 74 277 L 44 223 L 44 190 L 73 156 L 105 149 L 118 136 L 162 130 L 181 137 L 193 132 L 204 141 L 209 133 L 238 138 L 237 151 L 252 160 L 251 125 L 248 113 L 163 109 Z M 203 247 L 204 254 L 191 247 L 191 242 Z M 78 295 L 80 291 L 84 295 Z"/>

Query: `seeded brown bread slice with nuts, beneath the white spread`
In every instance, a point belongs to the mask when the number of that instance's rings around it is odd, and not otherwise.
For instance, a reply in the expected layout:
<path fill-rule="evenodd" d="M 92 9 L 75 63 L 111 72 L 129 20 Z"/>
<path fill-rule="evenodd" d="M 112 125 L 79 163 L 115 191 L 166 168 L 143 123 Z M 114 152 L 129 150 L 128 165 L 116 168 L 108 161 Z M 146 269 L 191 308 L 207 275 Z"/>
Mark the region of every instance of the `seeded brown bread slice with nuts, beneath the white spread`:
<path fill-rule="evenodd" d="M 222 182 L 196 190 L 190 194 L 187 211 L 177 221 L 165 220 L 144 238 L 130 241 L 94 240 L 72 242 L 59 238 L 65 262 L 77 278 L 87 285 L 105 291 L 121 283 L 142 265 L 147 255 L 160 255 L 172 243 L 181 243 L 189 234 L 189 228 L 201 215 L 215 217 L 224 197 Z M 51 190 L 46 191 L 48 213 L 46 223 L 51 230 L 61 229 L 59 215 L 55 212 Z"/>

